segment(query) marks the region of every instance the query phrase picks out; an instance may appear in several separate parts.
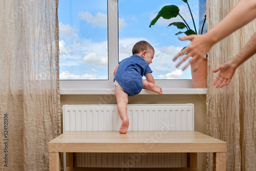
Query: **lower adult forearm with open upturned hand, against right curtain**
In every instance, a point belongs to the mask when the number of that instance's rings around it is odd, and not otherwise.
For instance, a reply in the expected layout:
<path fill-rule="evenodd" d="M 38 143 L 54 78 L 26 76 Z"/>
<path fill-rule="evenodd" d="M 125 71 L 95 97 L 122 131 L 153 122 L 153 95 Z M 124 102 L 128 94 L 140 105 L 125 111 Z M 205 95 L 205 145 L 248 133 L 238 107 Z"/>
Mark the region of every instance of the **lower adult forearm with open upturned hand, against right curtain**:
<path fill-rule="evenodd" d="M 254 54 L 256 54 L 256 33 L 252 35 L 244 48 L 236 56 L 212 71 L 214 73 L 220 71 L 214 80 L 214 85 L 217 88 L 227 86 L 237 68 Z"/>

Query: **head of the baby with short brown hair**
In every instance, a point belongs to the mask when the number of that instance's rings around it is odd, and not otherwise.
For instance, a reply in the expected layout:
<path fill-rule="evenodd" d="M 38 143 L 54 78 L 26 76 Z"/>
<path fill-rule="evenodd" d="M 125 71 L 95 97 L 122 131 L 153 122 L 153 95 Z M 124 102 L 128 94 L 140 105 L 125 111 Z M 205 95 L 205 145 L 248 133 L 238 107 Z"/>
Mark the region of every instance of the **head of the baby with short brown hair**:
<path fill-rule="evenodd" d="M 138 41 L 133 46 L 133 55 L 141 56 L 148 64 L 152 63 L 152 59 L 155 55 L 154 48 L 148 44 L 145 40 Z"/>

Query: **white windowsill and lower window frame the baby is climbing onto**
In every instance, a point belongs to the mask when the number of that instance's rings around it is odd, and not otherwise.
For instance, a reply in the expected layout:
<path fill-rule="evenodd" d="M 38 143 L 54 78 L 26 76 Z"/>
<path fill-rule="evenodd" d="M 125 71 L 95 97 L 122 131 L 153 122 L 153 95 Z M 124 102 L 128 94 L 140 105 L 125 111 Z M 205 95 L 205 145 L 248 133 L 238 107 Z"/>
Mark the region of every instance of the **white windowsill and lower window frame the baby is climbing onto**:
<path fill-rule="evenodd" d="M 193 89 L 192 80 L 156 80 L 163 94 L 206 94 L 207 89 Z M 115 94 L 113 81 L 60 80 L 61 95 L 104 95 Z M 157 94 L 142 89 L 140 94 Z M 139 95 L 140 95 L 139 94 Z"/>

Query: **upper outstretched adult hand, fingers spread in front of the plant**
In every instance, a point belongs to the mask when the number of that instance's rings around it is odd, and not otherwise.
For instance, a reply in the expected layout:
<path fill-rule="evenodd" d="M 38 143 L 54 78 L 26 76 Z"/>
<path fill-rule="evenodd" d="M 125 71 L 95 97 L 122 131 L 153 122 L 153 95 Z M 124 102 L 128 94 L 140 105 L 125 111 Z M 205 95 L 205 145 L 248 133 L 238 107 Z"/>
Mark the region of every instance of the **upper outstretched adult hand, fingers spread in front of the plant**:
<path fill-rule="evenodd" d="M 173 61 L 175 61 L 180 56 L 184 56 L 177 64 L 176 68 L 178 68 L 181 63 L 186 61 L 189 57 L 192 57 L 192 59 L 189 60 L 189 62 L 184 66 L 182 70 L 185 70 L 190 64 L 195 63 L 193 71 L 197 71 L 202 63 L 203 57 L 214 44 L 211 43 L 211 40 L 206 38 L 204 35 L 190 35 L 180 37 L 179 39 L 182 41 L 190 40 L 191 44 L 174 57 Z"/>

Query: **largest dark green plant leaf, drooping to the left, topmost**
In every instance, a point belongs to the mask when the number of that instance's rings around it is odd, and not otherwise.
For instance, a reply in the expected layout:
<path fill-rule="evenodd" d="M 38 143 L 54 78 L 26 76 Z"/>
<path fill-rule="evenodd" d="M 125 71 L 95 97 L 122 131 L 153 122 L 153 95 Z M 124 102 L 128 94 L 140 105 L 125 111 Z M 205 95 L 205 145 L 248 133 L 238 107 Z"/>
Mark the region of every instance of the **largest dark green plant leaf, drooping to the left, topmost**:
<path fill-rule="evenodd" d="M 179 14 L 180 9 L 176 5 L 167 5 L 164 6 L 157 14 L 157 16 L 151 21 L 150 27 L 155 25 L 157 20 L 160 17 L 163 17 L 164 19 L 170 19 L 175 18 Z"/>

